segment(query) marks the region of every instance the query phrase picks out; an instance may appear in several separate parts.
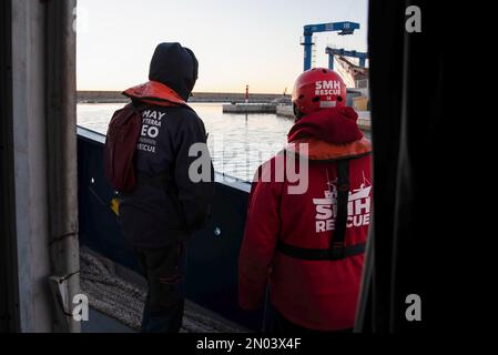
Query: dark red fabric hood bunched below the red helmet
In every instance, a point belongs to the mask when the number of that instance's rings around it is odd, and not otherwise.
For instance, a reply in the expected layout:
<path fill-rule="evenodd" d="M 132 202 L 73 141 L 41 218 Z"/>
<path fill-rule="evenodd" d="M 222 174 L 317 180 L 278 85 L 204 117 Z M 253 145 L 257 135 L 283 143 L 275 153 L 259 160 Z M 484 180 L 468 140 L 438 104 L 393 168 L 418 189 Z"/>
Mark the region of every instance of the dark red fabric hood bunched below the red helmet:
<path fill-rule="evenodd" d="M 331 144 L 359 141 L 363 133 L 356 121 L 358 114 L 352 108 L 331 108 L 315 111 L 297 121 L 288 132 L 288 142 L 313 139 Z"/>

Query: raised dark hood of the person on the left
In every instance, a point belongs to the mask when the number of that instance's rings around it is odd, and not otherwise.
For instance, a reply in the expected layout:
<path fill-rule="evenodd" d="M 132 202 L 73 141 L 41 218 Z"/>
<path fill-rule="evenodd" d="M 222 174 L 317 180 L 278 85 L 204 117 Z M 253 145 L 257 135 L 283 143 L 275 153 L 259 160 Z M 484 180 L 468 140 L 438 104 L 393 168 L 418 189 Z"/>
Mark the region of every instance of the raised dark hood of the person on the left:
<path fill-rule="evenodd" d="M 199 62 L 194 53 L 180 43 L 161 43 L 155 48 L 149 70 L 149 80 L 173 89 L 184 101 L 197 80 Z"/>

